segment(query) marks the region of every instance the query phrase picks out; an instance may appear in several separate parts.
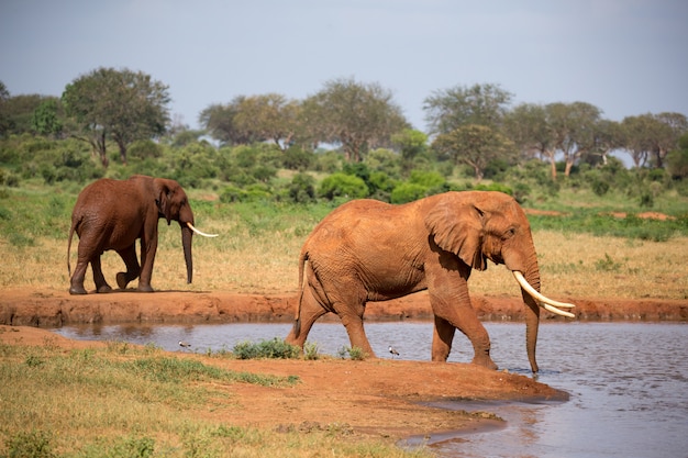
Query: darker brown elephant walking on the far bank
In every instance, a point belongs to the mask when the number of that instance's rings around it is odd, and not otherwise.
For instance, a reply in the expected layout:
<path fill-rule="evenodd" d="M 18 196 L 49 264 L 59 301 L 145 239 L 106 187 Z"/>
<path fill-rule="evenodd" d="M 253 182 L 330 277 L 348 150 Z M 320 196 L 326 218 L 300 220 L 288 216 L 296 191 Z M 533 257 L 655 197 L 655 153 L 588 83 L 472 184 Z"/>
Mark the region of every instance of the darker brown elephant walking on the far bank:
<path fill-rule="evenodd" d="M 114 249 L 126 266 L 116 275 L 120 289 L 138 278 L 138 291 L 152 292 L 151 276 L 157 250 L 158 219 L 173 220 L 181 226 L 181 243 L 187 267 L 187 282 L 191 283 L 193 264 L 191 238 L 193 232 L 206 234 L 193 226 L 193 212 L 181 186 L 170 179 L 135 175 L 127 180 L 99 179 L 84 188 L 71 212 L 71 227 L 67 243 L 67 269 L 71 277 L 69 293 L 86 294 L 84 277 L 91 264 L 97 292 L 110 292 L 100 265 L 100 256 Z M 71 275 L 69 253 L 74 233 L 79 236 L 78 260 Z M 141 266 L 135 242 L 141 238 Z"/>

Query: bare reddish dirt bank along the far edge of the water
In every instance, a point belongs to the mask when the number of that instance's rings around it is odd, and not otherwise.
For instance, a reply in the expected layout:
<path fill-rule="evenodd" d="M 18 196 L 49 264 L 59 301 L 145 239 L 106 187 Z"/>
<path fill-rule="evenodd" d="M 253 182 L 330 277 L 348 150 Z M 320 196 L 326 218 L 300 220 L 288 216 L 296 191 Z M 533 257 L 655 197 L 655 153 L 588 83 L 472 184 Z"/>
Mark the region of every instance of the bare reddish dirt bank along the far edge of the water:
<path fill-rule="evenodd" d="M 244 294 L 229 291 L 188 292 L 134 290 L 108 294 L 70 295 L 51 289 L 3 290 L 0 324 L 59 327 L 76 324 L 116 323 L 234 323 L 290 322 L 296 294 Z M 578 321 L 688 321 L 688 300 L 563 298 L 576 304 Z M 520 298 L 474 297 L 474 308 L 484 321 L 521 321 Z M 366 320 L 430 320 L 426 292 L 393 301 L 371 302 Z M 336 320 L 326 315 L 324 320 Z M 543 321 L 569 321 L 548 312 Z"/>

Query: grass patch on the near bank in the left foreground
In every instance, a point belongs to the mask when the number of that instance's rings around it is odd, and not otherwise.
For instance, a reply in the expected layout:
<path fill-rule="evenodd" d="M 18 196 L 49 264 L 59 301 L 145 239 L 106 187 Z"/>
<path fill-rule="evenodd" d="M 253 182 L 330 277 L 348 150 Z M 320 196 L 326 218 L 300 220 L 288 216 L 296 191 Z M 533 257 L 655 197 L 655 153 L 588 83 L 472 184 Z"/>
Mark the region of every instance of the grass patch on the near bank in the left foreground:
<path fill-rule="evenodd" d="M 298 378 L 235 372 L 122 343 L 68 353 L 49 339 L 0 344 L 0 457 L 431 456 L 389 440 L 352 440 L 346 425 L 276 433 L 232 425 L 223 413 L 233 407 L 235 383 L 288 388 Z"/>

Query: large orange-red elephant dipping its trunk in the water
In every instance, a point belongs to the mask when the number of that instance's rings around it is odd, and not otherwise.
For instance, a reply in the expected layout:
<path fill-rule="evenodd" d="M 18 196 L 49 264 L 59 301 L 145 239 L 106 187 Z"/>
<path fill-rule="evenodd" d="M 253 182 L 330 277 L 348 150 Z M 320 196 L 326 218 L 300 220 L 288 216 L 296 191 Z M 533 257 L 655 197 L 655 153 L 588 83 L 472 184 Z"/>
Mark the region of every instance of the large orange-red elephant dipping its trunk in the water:
<path fill-rule="evenodd" d="M 375 357 L 363 315 L 368 301 L 428 290 L 434 314 L 432 360 L 446 361 L 458 328 L 474 347 L 473 364 L 497 369 L 490 338 L 468 293 L 471 269 L 503 264 L 521 286 L 526 351 L 533 372 L 540 308 L 574 317 L 540 293 L 540 269 L 530 224 L 510 196 L 496 191 L 445 192 L 404 204 L 349 201 L 325 216 L 299 256 L 299 298 L 286 340 L 303 347 L 313 323 L 339 315 L 352 347 Z"/>

